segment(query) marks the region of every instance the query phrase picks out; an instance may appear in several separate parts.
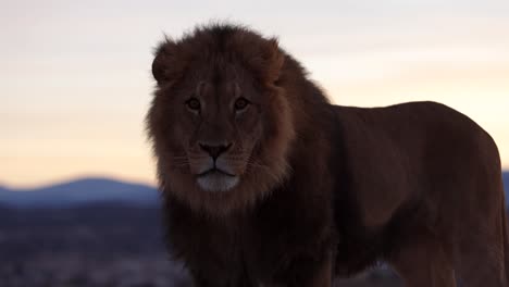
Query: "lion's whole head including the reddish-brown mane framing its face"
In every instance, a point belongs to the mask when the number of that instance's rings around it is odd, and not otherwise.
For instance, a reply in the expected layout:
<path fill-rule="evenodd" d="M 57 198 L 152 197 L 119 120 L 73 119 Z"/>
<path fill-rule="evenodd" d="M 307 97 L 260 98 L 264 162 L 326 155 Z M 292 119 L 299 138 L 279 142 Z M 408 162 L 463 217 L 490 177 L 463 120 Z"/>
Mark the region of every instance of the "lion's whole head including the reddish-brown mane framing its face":
<path fill-rule="evenodd" d="M 228 212 L 285 178 L 295 130 L 284 61 L 275 39 L 231 25 L 159 46 L 147 126 L 164 192 Z"/>

